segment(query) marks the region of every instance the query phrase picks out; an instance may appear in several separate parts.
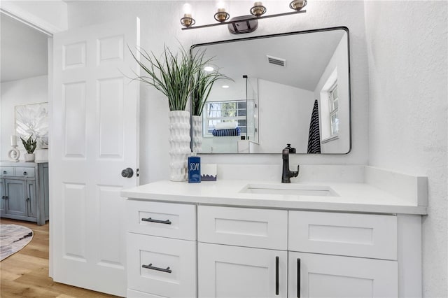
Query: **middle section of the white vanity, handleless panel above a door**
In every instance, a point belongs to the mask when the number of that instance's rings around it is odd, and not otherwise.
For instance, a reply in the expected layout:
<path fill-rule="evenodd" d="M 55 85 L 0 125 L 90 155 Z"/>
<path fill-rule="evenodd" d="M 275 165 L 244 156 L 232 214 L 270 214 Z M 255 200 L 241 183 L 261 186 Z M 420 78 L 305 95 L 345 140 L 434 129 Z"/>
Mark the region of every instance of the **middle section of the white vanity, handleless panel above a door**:
<path fill-rule="evenodd" d="M 198 297 L 287 297 L 288 211 L 198 206 Z"/>

